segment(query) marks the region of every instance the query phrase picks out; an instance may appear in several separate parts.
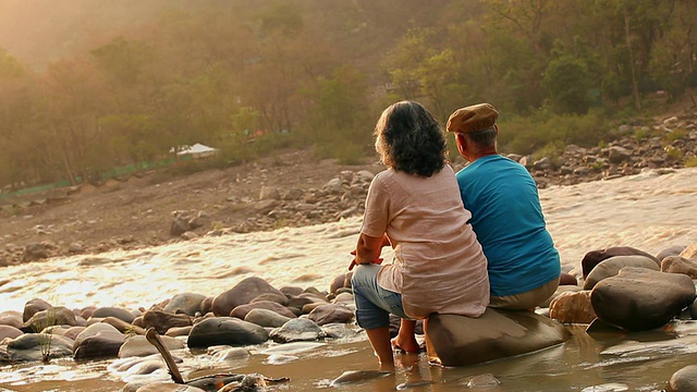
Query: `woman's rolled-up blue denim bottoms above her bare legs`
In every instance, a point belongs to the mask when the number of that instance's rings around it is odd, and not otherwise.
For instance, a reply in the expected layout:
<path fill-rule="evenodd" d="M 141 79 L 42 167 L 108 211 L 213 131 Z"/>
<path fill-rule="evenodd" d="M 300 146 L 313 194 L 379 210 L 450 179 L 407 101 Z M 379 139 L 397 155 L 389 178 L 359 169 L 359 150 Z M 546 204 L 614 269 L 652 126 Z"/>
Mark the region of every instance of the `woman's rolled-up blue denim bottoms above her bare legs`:
<path fill-rule="evenodd" d="M 356 266 L 351 278 L 356 321 L 363 329 L 390 326 L 390 314 L 408 319 L 402 307 L 402 294 L 384 290 L 378 285 L 379 265 Z"/>

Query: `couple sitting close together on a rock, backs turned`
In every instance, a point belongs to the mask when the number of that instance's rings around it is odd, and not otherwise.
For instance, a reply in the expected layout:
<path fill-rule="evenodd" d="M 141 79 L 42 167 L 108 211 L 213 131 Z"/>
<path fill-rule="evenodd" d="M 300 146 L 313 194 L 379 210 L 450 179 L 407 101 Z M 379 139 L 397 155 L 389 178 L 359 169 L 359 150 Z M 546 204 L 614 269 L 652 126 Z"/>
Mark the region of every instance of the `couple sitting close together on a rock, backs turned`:
<path fill-rule="evenodd" d="M 368 191 L 352 286 L 356 320 L 381 369 L 394 369 L 393 348 L 418 353 L 417 319 L 427 329 L 433 313 L 531 310 L 557 290 L 559 253 L 537 186 L 522 164 L 498 154 L 498 115 L 480 103 L 450 117 L 447 130 L 470 162 L 457 174 L 425 107 L 396 102 L 378 120 L 375 146 L 388 169 Z M 392 264 L 380 264 L 383 246 L 394 249 Z M 402 318 L 392 341 L 389 314 Z"/>

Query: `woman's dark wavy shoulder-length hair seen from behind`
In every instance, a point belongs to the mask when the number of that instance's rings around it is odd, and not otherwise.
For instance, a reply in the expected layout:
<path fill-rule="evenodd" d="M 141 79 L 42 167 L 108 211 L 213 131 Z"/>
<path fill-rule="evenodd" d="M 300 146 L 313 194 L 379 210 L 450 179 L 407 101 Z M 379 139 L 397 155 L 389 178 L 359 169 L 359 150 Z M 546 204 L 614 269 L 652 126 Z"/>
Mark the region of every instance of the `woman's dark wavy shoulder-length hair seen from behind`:
<path fill-rule="evenodd" d="M 375 136 L 380 160 L 395 171 L 428 177 L 445 167 L 445 135 L 418 102 L 400 101 L 384 109 Z"/>

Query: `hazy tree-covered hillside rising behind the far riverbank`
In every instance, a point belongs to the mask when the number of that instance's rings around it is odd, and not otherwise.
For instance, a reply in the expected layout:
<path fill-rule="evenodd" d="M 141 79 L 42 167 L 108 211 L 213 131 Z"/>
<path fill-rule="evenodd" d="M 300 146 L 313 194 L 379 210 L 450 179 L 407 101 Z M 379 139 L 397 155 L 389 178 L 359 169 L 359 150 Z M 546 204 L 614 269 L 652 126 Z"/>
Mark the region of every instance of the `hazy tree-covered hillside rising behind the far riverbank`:
<path fill-rule="evenodd" d="M 502 150 L 597 145 L 694 101 L 695 0 L 0 0 L 0 186 L 99 180 L 183 146 L 350 162 L 382 108 L 489 101 Z"/>

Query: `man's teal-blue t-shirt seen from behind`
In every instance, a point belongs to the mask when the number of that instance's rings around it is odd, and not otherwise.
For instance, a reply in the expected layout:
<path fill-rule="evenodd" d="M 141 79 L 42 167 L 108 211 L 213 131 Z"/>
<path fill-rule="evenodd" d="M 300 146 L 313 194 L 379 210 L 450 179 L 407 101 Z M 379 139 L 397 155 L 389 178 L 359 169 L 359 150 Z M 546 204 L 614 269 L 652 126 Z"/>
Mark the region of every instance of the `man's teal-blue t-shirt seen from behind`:
<path fill-rule="evenodd" d="M 469 223 L 489 261 L 492 296 L 519 294 L 559 277 L 559 253 L 527 169 L 492 155 L 456 176 L 462 200 L 472 212 Z"/>

